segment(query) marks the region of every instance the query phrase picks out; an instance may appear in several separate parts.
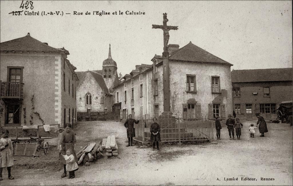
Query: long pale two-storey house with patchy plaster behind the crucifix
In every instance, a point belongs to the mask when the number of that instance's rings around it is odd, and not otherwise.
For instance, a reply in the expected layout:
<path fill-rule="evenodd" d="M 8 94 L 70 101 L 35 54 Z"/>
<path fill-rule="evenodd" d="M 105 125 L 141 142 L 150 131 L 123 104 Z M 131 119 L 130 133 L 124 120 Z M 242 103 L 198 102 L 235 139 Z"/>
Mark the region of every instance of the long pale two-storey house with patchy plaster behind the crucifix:
<path fill-rule="evenodd" d="M 196 119 L 232 114 L 232 64 L 195 46 L 191 42 L 179 49 L 169 45 L 170 111 L 177 117 Z M 162 57 L 153 65 L 136 65 L 124 82 L 114 87 L 115 105 L 120 116 L 159 116 L 163 112 Z"/>

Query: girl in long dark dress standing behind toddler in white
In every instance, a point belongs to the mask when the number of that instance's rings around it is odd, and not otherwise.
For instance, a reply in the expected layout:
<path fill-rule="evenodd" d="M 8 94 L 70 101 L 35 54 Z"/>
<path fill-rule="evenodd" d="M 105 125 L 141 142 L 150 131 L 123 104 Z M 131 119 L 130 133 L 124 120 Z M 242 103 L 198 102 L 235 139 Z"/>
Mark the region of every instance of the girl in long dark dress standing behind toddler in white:
<path fill-rule="evenodd" d="M 70 149 L 72 154 L 74 155 L 74 160 L 77 162 L 77 157 L 75 154 L 75 143 L 76 143 L 75 133 L 72 130 L 71 124 L 67 124 L 67 126 L 65 127 L 65 131 L 61 133 L 61 138 L 59 143 L 60 144 L 59 152 L 62 155 L 65 155 L 66 151 Z M 61 178 L 64 178 L 66 177 L 66 160 L 64 159 L 63 156 L 61 156 L 60 161 L 64 167 L 64 173 L 62 174 Z"/>

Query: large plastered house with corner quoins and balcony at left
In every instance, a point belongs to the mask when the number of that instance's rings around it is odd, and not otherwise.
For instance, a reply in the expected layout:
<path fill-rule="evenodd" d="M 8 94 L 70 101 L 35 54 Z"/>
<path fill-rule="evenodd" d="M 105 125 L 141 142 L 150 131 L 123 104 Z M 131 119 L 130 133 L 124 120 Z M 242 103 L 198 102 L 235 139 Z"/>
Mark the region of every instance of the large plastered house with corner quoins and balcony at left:
<path fill-rule="evenodd" d="M 29 33 L 0 48 L 1 126 L 75 123 L 78 78 L 69 52 Z"/>

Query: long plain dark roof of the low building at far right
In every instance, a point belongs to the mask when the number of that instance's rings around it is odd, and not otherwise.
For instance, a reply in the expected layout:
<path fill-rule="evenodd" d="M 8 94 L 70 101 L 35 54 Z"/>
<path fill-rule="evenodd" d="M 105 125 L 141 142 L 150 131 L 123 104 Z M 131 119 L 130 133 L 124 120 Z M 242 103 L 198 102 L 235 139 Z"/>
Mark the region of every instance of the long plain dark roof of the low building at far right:
<path fill-rule="evenodd" d="M 232 70 L 232 83 L 258 81 L 292 81 L 292 68 Z"/>

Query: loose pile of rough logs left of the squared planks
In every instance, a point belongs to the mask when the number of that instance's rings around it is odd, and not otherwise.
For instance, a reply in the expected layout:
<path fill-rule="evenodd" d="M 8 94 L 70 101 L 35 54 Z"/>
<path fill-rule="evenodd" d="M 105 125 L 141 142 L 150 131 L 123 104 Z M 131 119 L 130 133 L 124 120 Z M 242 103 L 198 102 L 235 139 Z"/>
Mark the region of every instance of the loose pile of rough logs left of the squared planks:
<path fill-rule="evenodd" d="M 85 164 L 88 161 L 93 161 L 97 158 L 97 154 L 103 156 L 102 151 L 103 148 L 100 141 L 98 143 L 88 143 L 88 145 L 84 146 L 79 152 L 76 153 L 76 157 L 79 159 L 77 164 L 81 164 L 81 162 L 84 162 Z"/>

